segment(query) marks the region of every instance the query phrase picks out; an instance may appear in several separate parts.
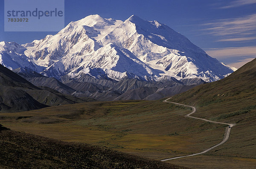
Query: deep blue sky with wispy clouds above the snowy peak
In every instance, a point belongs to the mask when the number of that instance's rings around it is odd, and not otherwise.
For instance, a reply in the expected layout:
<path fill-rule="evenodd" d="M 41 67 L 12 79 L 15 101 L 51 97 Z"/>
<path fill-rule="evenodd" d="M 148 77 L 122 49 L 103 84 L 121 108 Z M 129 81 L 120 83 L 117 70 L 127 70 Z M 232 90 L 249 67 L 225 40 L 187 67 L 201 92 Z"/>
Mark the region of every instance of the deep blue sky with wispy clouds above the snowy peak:
<path fill-rule="evenodd" d="M 65 25 L 90 14 L 118 20 L 136 14 L 158 20 L 237 68 L 256 57 L 256 0 L 65 0 Z M 0 0 L 0 41 L 23 44 L 57 33 L 4 32 L 3 16 Z"/>

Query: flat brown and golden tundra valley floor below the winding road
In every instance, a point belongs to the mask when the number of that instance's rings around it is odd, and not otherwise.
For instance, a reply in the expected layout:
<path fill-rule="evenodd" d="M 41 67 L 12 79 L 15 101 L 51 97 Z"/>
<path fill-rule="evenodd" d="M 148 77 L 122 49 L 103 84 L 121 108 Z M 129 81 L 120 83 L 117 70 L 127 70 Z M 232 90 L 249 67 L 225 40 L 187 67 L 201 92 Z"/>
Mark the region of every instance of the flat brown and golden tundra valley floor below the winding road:
<path fill-rule="evenodd" d="M 162 100 L 87 102 L 1 113 L 0 123 L 15 131 L 163 160 L 201 152 L 223 139 L 226 125 L 184 117 L 190 111 Z M 250 169 L 256 165 L 255 152 L 236 147 L 241 145 L 234 138 L 239 129 L 234 127 L 230 140 L 207 154 L 167 162 L 196 169 Z"/>

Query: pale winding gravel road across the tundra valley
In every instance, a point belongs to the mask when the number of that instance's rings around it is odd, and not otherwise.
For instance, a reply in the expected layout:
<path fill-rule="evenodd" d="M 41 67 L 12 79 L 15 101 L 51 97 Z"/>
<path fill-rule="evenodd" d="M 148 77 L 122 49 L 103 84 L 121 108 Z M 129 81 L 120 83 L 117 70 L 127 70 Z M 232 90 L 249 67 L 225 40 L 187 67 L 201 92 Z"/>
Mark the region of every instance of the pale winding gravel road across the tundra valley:
<path fill-rule="evenodd" d="M 170 98 L 172 98 L 172 97 L 170 97 Z M 163 102 L 166 102 L 166 103 L 174 103 L 174 102 L 167 101 L 167 100 L 169 100 L 170 98 L 164 100 Z M 173 160 L 173 159 L 177 159 L 177 158 L 190 157 L 190 156 L 194 156 L 194 155 L 201 155 L 201 154 L 204 154 L 204 153 L 206 153 L 206 152 L 209 152 L 211 149 L 214 149 L 215 147 L 220 146 L 221 144 L 224 144 L 224 143 L 228 140 L 228 138 L 229 138 L 229 136 L 230 136 L 231 128 L 236 125 L 236 124 L 221 123 L 221 122 L 217 122 L 217 121 L 206 120 L 206 119 L 198 118 L 198 117 L 192 117 L 192 116 L 190 116 L 190 115 L 192 115 L 193 113 L 196 112 L 195 107 L 193 107 L 193 106 L 188 106 L 188 105 L 185 105 L 185 104 L 180 104 L 180 103 L 174 103 L 174 104 L 192 108 L 192 112 L 189 113 L 189 114 L 187 114 L 187 115 L 185 115 L 185 117 L 190 117 L 190 118 L 195 118 L 195 119 L 199 119 L 199 120 L 204 120 L 204 121 L 208 121 L 208 122 L 210 122 L 210 123 L 226 124 L 226 125 L 228 125 L 228 127 L 227 127 L 227 129 L 225 130 L 225 135 L 224 135 L 223 140 L 222 140 L 220 143 L 216 144 L 215 146 L 212 146 L 212 147 L 210 147 L 209 149 L 204 150 L 203 152 L 196 153 L 196 154 L 185 155 L 185 156 L 180 156 L 180 157 L 175 157 L 175 158 L 168 158 L 168 159 L 164 159 L 164 160 L 161 160 L 161 161 L 167 161 L 167 160 Z M 230 126 L 230 127 L 229 127 L 229 126 Z"/>

